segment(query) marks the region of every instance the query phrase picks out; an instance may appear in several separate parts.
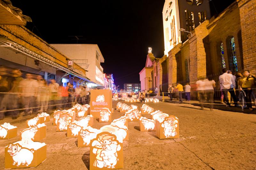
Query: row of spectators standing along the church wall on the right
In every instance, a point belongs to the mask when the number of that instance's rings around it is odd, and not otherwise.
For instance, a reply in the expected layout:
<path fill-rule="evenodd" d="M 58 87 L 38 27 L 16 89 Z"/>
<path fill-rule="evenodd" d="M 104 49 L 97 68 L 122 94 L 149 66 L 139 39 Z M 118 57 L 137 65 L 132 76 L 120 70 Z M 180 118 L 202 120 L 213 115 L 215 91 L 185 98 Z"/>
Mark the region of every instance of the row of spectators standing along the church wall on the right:
<path fill-rule="evenodd" d="M 256 76 L 249 70 L 233 74 L 231 70 L 224 68 L 222 72 L 223 74 L 219 76 L 221 104 L 230 107 L 232 101 L 235 107 L 248 108 L 252 111 L 252 102 L 256 104 Z M 204 103 L 210 103 L 210 110 L 212 111 L 214 90 L 217 90 L 216 82 L 212 80 L 212 77 L 196 81 L 196 91 L 193 92 L 198 95 L 201 109 L 204 109 Z M 168 96 L 170 100 L 177 98 L 180 103 L 183 103 L 182 94 L 184 93 L 186 100 L 190 101 L 191 86 L 189 83 L 184 87 L 180 83 L 177 83 L 176 86 L 169 85 Z"/>

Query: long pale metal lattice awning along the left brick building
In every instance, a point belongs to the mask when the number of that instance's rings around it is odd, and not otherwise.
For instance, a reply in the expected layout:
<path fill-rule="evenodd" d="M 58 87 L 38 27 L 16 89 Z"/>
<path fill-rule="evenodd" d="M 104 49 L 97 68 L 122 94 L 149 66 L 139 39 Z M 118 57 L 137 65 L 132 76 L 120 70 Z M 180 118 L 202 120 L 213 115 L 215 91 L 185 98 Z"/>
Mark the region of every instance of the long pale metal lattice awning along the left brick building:
<path fill-rule="evenodd" d="M 54 61 L 52 61 L 52 60 L 50 60 L 48 58 L 45 58 L 45 57 L 43 57 L 41 55 L 38 55 L 36 52 L 28 50 L 27 48 L 25 48 L 25 47 L 23 47 L 23 46 L 21 46 L 21 45 L 19 45 L 17 43 L 13 43 L 13 42 L 10 42 L 10 41 L 7 41 L 7 40 L 0 39 L 0 46 L 1 47 L 10 48 L 12 50 L 15 50 L 15 51 L 18 51 L 20 53 L 23 53 L 23 54 L 27 55 L 30 58 L 39 60 L 39 61 L 41 61 L 43 63 L 46 63 L 46 64 L 48 64 L 50 66 L 55 67 L 56 69 L 59 69 L 61 71 L 64 71 L 64 72 L 69 73 L 71 75 L 74 75 L 74 76 L 76 76 L 76 77 L 78 77 L 78 78 L 80 78 L 82 80 L 90 81 L 90 79 L 87 78 L 86 76 L 78 74 L 78 73 L 74 72 L 73 70 L 70 70 L 70 69 L 68 69 L 66 67 L 63 67 L 63 66 L 59 65 L 58 63 L 56 63 L 56 62 L 54 62 Z"/>

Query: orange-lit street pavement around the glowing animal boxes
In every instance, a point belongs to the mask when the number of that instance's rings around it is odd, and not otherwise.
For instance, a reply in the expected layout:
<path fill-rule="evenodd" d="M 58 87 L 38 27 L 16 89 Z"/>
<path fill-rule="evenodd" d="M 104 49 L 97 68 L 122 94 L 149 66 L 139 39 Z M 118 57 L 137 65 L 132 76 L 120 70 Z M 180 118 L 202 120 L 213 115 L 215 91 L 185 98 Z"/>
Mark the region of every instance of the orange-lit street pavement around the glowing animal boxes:
<path fill-rule="evenodd" d="M 124 101 L 121 101 L 125 103 Z M 113 102 L 113 108 L 116 108 Z M 131 104 L 131 103 L 127 103 Z M 140 103 L 132 103 L 139 106 Z M 129 140 L 124 141 L 124 169 L 256 169 L 256 115 L 208 108 L 191 104 L 147 103 L 179 118 L 180 138 L 160 140 L 156 132 L 140 132 L 139 122 L 128 123 Z M 112 119 L 123 113 L 114 110 Z M 149 118 L 149 117 L 148 117 Z M 11 119 L 0 121 L 0 124 Z M 26 128 L 24 119 L 13 121 L 18 132 Z M 47 125 L 47 159 L 35 169 L 89 169 L 90 148 L 77 148 L 77 138 L 56 132 Z M 110 123 L 94 119 L 93 128 Z M 0 140 L 0 169 L 4 169 L 4 147 L 19 136 Z"/>

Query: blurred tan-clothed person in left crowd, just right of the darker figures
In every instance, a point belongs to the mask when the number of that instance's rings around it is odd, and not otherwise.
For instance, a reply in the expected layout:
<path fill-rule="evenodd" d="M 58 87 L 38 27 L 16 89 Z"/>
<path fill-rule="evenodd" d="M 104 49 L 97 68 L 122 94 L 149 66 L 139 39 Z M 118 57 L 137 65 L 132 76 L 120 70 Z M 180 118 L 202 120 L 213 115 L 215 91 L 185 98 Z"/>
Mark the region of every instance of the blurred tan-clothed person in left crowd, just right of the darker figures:
<path fill-rule="evenodd" d="M 27 73 L 26 79 L 20 81 L 21 95 L 25 114 L 27 116 L 36 111 L 36 97 L 38 93 L 38 82 L 32 79 L 32 74 Z"/>

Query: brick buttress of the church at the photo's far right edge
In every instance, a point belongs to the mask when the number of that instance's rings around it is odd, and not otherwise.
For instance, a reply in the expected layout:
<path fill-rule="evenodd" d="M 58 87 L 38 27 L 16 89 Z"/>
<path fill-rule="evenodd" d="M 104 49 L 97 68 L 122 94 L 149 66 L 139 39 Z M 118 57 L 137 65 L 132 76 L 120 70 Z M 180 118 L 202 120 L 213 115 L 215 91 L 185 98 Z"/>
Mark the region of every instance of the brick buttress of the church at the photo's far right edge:
<path fill-rule="evenodd" d="M 256 73 L 256 0 L 237 0 L 243 45 L 244 69 Z"/>

